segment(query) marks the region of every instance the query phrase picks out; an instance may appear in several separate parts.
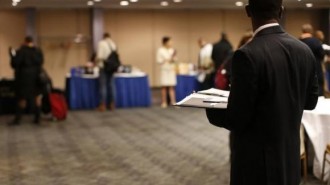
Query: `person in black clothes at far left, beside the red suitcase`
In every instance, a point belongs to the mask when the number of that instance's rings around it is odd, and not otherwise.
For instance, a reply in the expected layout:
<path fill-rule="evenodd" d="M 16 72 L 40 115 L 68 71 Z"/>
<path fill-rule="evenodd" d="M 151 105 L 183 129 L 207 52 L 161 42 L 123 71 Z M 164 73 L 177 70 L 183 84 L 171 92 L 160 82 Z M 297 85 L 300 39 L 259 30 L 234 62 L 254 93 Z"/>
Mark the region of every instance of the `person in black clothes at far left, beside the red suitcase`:
<path fill-rule="evenodd" d="M 28 36 L 24 44 L 17 50 L 11 51 L 11 66 L 15 71 L 15 93 L 17 110 L 15 119 L 10 125 L 19 125 L 27 102 L 33 102 L 34 123 L 40 123 L 41 93 L 39 76 L 44 62 L 42 51 L 37 48 L 32 37 Z"/>

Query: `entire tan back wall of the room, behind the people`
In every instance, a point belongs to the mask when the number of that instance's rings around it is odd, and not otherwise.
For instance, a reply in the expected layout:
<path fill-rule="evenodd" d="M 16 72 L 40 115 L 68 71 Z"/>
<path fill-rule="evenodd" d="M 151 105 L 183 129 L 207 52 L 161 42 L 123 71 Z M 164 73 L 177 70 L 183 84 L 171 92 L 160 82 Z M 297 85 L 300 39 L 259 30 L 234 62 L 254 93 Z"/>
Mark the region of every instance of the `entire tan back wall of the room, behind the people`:
<path fill-rule="evenodd" d="M 90 14 L 87 9 L 37 10 L 37 31 L 40 46 L 45 53 L 45 68 L 57 87 L 64 87 L 65 75 L 70 68 L 84 64 L 90 57 L 90 40 L 73 42 L 77 34 L 90 35 Z M 288 10 L 286 30 L 299 37 L 301 25 L 311 23 L 320 27 L 319 10 Z M 243 10 L 104 10 L 105 31 L 112 34 L 119 47 L 123 63 L 147 72 L 152 86 L 158 85 L 159 66 L 156 51 L 161 38 L 169 35 L 178 50 L 181 62 L 197 63 L 197 39 L 208 42 L 219 40 L 227 32 L 234 48 L 242 34 L 251 29 L 250 20 Z M 19 47 L 25 36 L 25 11 L 0 12 L 0 76 L 12 76 L 8 47 Z"/>

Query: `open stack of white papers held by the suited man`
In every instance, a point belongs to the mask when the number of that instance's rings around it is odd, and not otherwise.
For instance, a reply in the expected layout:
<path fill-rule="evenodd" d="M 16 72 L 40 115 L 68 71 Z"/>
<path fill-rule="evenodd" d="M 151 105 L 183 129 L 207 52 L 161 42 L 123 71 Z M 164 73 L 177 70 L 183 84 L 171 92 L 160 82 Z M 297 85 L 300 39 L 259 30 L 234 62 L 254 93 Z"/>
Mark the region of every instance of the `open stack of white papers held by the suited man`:
<path fill-rule="evenodd" d="M 176 106 L 226 109 L 229 94 L 229 91 L 211 88 L 187 96 L 180 102 L 176 103 Z"/>

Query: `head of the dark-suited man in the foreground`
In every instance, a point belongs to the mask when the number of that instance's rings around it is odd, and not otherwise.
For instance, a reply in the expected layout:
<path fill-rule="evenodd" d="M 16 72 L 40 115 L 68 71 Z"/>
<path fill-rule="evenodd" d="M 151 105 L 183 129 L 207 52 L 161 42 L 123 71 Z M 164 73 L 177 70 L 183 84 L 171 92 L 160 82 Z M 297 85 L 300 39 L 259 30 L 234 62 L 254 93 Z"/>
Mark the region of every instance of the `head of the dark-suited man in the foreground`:
<path fill-rule="evenodd" d="M 254 20 L 279 21 L 283 12 L 282 0 L 249 0 L 246 12 Z"/>

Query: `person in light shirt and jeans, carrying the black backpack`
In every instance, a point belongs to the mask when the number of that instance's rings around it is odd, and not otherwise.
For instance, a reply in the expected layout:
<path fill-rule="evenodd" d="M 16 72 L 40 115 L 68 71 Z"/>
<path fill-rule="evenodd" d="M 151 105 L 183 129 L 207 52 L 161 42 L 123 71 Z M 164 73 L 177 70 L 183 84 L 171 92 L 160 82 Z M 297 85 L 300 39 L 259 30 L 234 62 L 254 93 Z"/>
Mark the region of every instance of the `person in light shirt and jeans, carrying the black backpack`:
<path fill-rule="evenodd" d="M 111 39 L 109 33 L 103 34 L 103 39 L 99 42 L 96 54 L 97 66 L 99 67 L 99 85 L 100 85 L 100 105 L 98 110 L 103 112 L 107 109 L 107 102 L 110 102 L 109 109 L 115 109 L 114 103 L 114 82 L 113 74 L 106 73 L 104 62 L 112 52 L 116 51 L 115 42 Z M 107 96 L 109 95 L 109 96 Z"/>

